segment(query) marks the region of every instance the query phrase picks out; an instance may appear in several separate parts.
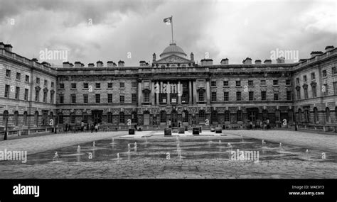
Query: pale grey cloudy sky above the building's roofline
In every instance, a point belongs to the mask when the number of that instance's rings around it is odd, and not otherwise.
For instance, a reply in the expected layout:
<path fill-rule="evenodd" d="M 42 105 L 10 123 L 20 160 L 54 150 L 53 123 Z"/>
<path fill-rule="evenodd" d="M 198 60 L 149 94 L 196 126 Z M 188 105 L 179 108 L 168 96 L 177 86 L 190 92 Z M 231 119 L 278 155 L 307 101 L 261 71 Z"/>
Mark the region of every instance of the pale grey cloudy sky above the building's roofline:
<path fill-rule="evenodd" d="M 336 47 L 336 8 L 336 1 L 304 0 L 0 0 L 0 42 L 28 58 L 47 48 L 68 50 L 70 62 L 86 66 L 97 60 L 134 66 L 169 45 L 171 26 L 163 19 L 173 16 L 174 40 L 199 62 L 208 55 L 213 64 L 225 57 L 263 61 L 277 49 L 306 58 Z"/>

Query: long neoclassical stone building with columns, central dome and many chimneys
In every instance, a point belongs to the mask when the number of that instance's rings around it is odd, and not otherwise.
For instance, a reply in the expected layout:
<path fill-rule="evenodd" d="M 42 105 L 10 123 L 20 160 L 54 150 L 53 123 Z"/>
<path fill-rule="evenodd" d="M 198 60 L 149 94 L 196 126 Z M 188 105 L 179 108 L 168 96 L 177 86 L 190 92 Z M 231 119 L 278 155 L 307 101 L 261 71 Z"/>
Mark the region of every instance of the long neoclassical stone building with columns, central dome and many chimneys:
<path fill-rule="evenodd" d="M 149 64 L 123 61 L 48 62 L 27 59 L 0 43 L 0 133 L 51 131 L 51 125 L 100 123 L 103 130 L 142 125 L 144 130 L 171 124 L 336 131 L 337 49 L 311 52 L 307 59 L 279 58 L 230 64 L 211 59 L 197 64 L 171 43 Z M 52 124 L 51 124 L 52 123 Z"/>

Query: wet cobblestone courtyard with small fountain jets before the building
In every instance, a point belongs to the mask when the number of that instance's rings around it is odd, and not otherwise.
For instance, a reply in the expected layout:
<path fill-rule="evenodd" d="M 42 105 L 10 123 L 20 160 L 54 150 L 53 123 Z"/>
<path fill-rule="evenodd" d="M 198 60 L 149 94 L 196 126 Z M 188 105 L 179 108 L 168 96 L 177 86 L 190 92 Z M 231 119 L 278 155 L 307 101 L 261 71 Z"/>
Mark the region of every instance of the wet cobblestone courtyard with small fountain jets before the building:
<path fill-rule="evenodd" d="M 337 135 L 223 130 L 225 136 L 177 139 L 144 131 L 144 140 L 140 136 L 122 138 L 126 133 L 68 133 L 1 141 L 2 151 L 26 150 L 28 162 L 0 162 L 0 178 L 337 178 Z M 109 143 L 112 138 L 114 144 Z M 267 146 L 260 145 L 262 139 Z M 92 141 L 96 141 L 97 150 L 91 149 Z M 176 141 L 182 158 L 178 158 Z M 127 145 L 133 148 L 133 142 L 138 142 L 139 150 L 132 149 L 127 155 Z M 260 150 L 260 161 L 230 160 L 228 142 L 232 150 Z M 279 142 L 282 148 L 277 146 Z M 75 154 L 77 145 L 83 155 Z M 53 161 L 55 151 L 64 157 Z M 87 159 L 88 152 L 94 153 L 93 159 Z M 326 152 L 326 159 L 320 158 L 322 152 Z"/>

